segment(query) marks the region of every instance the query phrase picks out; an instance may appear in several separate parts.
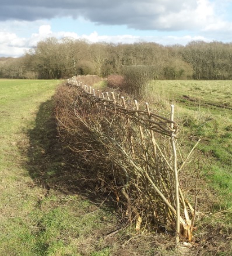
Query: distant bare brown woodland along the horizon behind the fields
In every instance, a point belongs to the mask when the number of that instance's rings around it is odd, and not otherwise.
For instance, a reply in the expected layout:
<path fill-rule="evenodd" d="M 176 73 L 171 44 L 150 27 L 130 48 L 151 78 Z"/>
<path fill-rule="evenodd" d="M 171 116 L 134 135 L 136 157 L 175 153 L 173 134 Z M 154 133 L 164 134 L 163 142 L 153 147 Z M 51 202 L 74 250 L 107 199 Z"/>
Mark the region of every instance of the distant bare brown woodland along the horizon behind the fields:
<path fill-rule="evenodd" d="M 49 38 L 19 58 L 0 58 L 0 78 L 62 79 L 152 70 L 153 79 L 232 79 L 232 43 L 89 43 Z"/>

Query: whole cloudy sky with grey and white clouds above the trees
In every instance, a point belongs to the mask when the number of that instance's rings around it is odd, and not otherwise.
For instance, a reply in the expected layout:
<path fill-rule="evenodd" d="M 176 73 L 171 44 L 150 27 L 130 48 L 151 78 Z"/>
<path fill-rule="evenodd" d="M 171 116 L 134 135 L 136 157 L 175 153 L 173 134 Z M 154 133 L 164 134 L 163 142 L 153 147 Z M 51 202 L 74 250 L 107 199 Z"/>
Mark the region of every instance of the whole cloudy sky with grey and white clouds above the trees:
<path fill-rule="evenodd" d="M 0 0 L 0 57 L 48 37 L 90 43 L 232 42 L 232 0 Z"/>

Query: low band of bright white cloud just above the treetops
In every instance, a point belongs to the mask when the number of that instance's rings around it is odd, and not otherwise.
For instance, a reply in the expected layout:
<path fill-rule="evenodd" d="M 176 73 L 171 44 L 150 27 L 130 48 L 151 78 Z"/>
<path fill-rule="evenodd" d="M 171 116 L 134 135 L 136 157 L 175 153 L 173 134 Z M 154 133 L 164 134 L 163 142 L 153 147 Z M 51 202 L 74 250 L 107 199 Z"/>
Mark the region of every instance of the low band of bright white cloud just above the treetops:
<path fill-rule="evenodd" d="M 48 37 L 56 37 L 62 39 L 64 37 L 72 37 L 73 39 L 85 39 L 90 43 L 106 42 L 106 43 L 135 43 L 139 41 L 154 41 L 159 44 L 187 44 L 192 40 L 205 40 L 202 36 L 132 36 L 130 34 L 122 34 L 117 36 L 99 35 L 96 31 L 90 34 L 79 35 L 74 32 L 52 32 L 50 25 L 41 25 L 38 33 L 32 33 L 30 37 L 18 37 L 15 33 L 0 32 L 0 56 L 19 57 L 25 51 L 36 47 L 37 43 Z"/>

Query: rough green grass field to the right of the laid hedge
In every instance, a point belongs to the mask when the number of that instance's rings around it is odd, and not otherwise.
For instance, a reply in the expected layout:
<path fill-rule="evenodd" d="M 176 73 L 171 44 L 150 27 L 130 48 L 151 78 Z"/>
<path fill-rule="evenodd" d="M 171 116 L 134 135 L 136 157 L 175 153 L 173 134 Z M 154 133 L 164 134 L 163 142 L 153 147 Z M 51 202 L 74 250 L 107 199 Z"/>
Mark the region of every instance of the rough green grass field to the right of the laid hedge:
<path fill-rule="evenodd" d="M 201 255 L 231 255 L 232 81 L 153 81 L 145 93 L 147 101 L 158 103 L 167 116 L 175 105 L 174 120 L 184 147 L 201 139 L 188 165 L 190 177 L 199 169 L 197 210 L 203 212 L 195 222 L 194 240 L 205 248 Z M 218 250 L 210 251 L 210 240 Z"/>

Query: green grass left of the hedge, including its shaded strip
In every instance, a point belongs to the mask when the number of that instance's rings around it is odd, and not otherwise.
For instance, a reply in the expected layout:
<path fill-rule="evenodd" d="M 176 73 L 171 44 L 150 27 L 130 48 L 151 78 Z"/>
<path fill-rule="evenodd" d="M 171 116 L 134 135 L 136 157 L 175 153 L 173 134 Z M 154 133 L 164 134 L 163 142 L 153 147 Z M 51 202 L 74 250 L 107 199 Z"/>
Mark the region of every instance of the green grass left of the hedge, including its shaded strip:
<path fill-rule="evenodd" d="M 60 185 L 61 172 L 77 175 L 54 130 L 60 83 L 0 80 L 0 255 L 108 255 L 95 247 L 95 231 L 111 228 L 102 221 L 112 220 L 109 210 Z"/>

